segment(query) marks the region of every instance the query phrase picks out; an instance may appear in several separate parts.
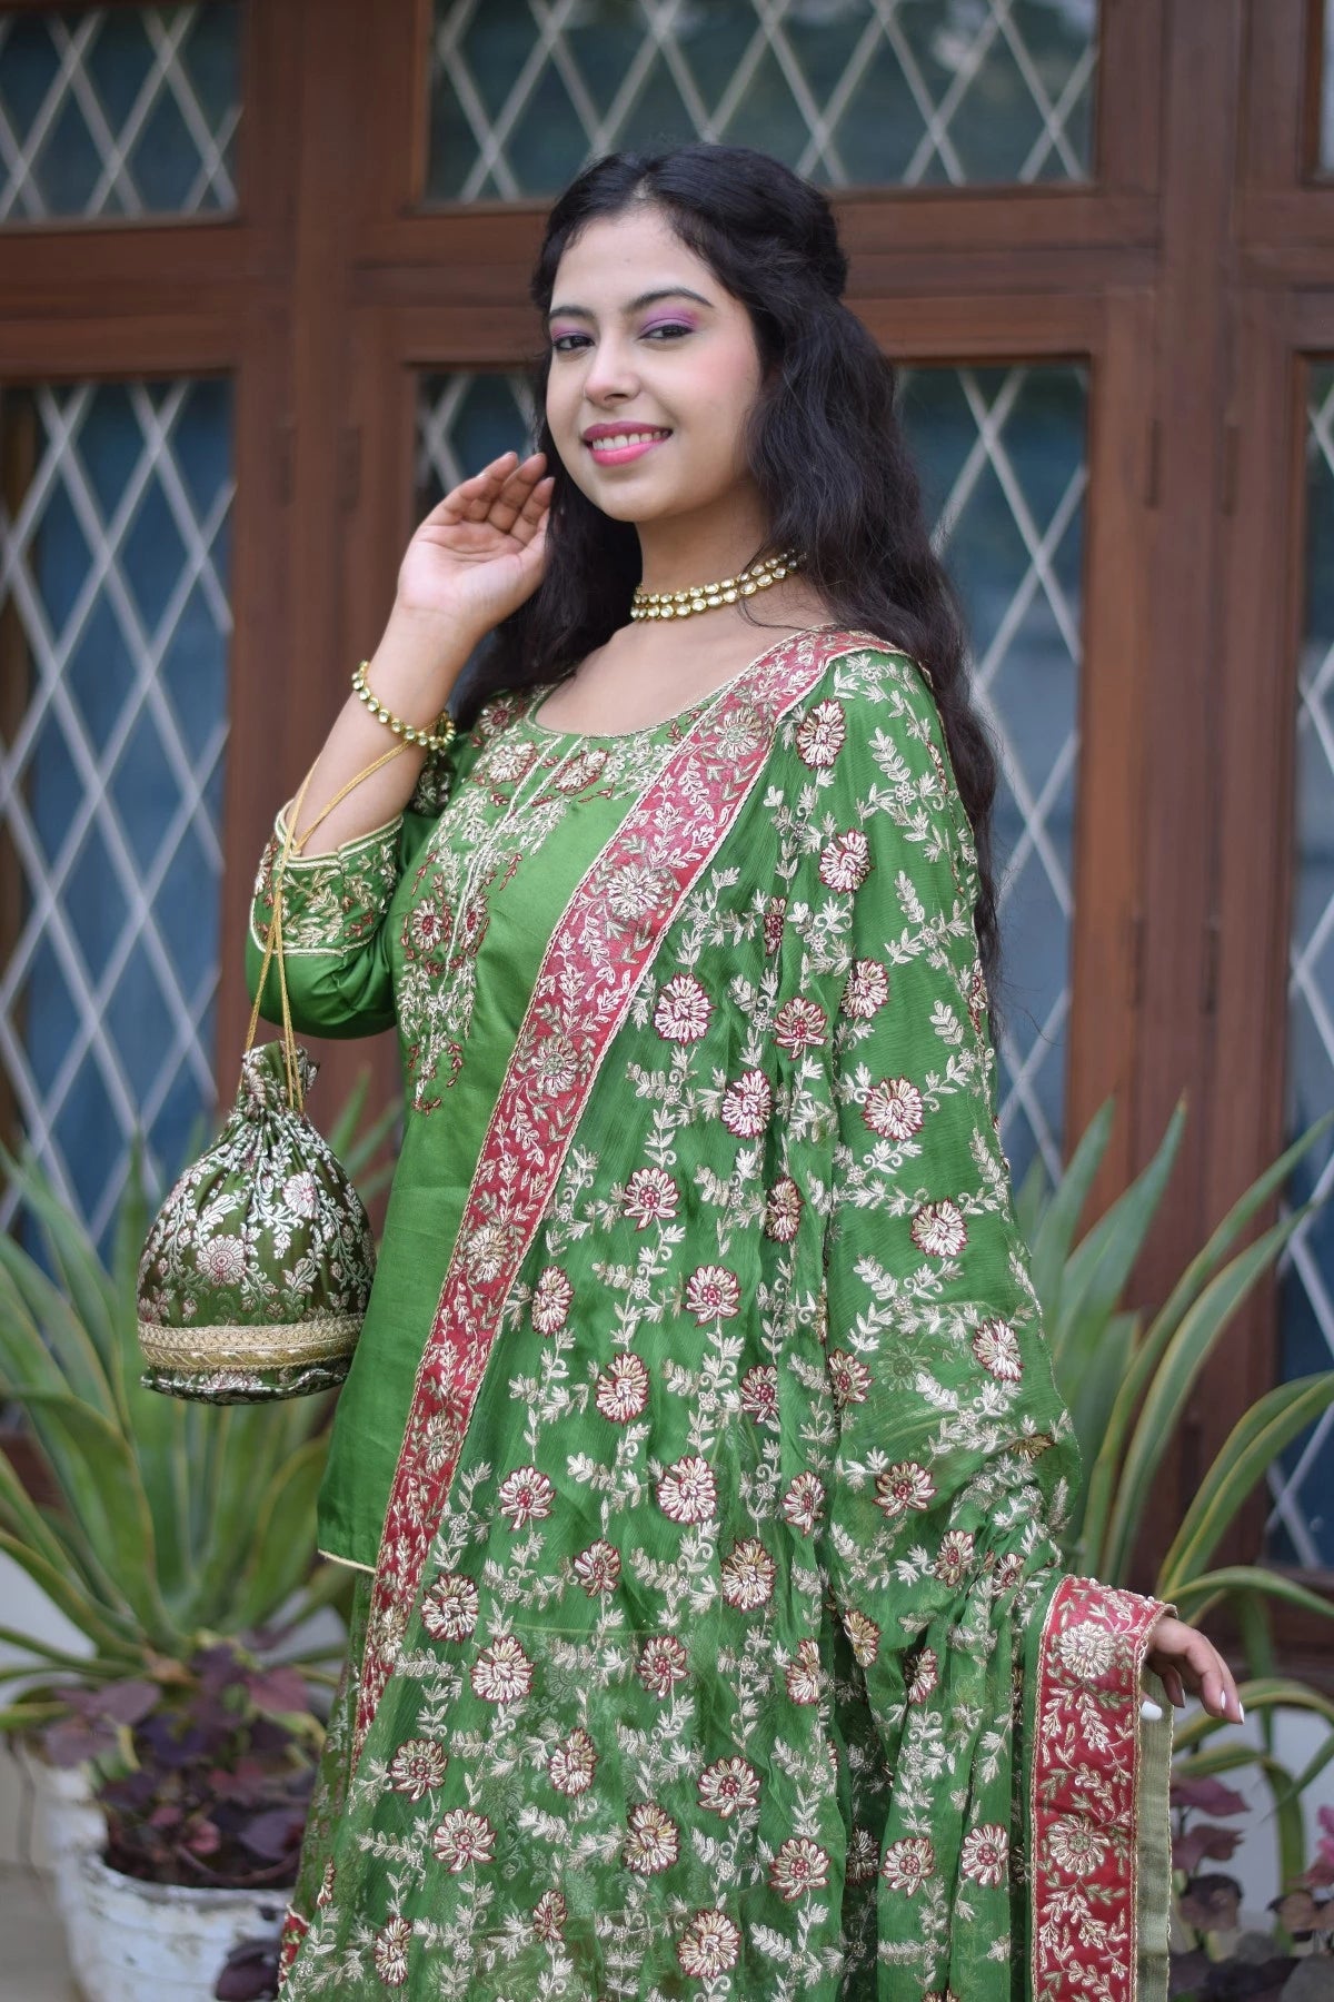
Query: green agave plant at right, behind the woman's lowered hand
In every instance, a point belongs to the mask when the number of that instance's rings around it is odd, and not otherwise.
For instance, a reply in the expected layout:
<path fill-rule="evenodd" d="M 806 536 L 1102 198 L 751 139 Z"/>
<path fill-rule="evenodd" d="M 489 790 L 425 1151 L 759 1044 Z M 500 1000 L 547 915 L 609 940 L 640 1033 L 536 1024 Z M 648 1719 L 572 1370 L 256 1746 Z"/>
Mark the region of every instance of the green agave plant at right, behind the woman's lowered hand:
<path fill-rule="evenodd" d="M 1200 1371 L 1240 1303 L 1322 1199 L 1290 1211 L 1240 1251 L 1234 1247 L 1284 1187 L 1302 1155 L 1328 1131 L 1334 1113 L 1308 1127 L 1246 1189 L 1190 1259 L 1148 1325 L 1140 1313 L 1122 1311 L 1118 1301 L 1172 1173 L 1186 1105 L 1184 1099 L 1178 1101 L 1144 1171 L 1074 1243 L 1112 1131 L 1112 1113 L 1114 1101 L 1108 1099 L 1090 1121 L 1056 1189 L 1050 1189 L 1040 1161 L 1034 1163 L 1016 1207 L 1032 1251 L 1052 1371 L 1084 1457 L 1084 1491 L 1070 1520 L 1066 1560 L 1084 1576 L 1108 1586 L 1128 1586 L 1154 1475 Z M 1204 1712 L 1178 1724 L 1174 1742 L 1178 1752 L 1190 1754 L 1192 1778 L 1240 1766 L 1260 1768 L 1274 1802 L 1280 1884 L 1294 1882 L 1304 1868 L 1300 1796 L 1334 1762 L 1334 1732 L 1326 1734 L 1306 1768 L 1292 1774 L 1274 1758 L 1274 1716 L 1278 1710 L 1306 1710 L 1334 1724 L 1334 1702 L 1320 1690 L 1278 1674 L 1270 1606 L 1282 1600 L 1328 1620 L 1334 1618 L 1334 1600 L 1260 1564 L 1226 1564 L 1214 1570 L 1210 1562 L 1270 1461 L 1330 1403 L 1334 1369 L 1324 1369 L 1280 1383 L 1242 1413 L 1200 1481 L 1152 1584 L 1156 1598 L 1172 1602 L 1180 1618 L 1196 1626 L 1222 1600 L 1236 1610 L 1250 1670 L 1250 1680 L 1238 1684 L 1238 1694 L 1248 1716 L 1254 1712 L 1260 1718 L 1262 1744 L 1230 1742 L 1204 1750 L 1224 1728 L 1222 1720 Z"/>

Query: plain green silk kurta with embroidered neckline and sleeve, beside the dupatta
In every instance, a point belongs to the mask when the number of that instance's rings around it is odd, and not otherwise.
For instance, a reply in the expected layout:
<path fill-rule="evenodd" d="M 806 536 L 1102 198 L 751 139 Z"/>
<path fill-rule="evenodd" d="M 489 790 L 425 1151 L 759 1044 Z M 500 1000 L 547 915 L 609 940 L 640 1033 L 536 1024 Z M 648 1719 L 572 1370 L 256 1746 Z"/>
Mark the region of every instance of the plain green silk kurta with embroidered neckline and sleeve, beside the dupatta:
<path fill-rule="evenodd" d="M 542 725 L 546 693 L 492 703 L 432 761 L 406 813 L 286 869 L 294 1027 L 346 1037 L 396 1023 L 408 1087 L 376 1279 L 320 1487 L 320 1550 L 364 1570 L 374 1570 L 426 1329 L 554 915 L 706 707 L 598 739 Z M 250 923 L 252 995 L 282 837 L 280 813 Z M 270 969 L 264 1013 L 278 1011 Z"/>

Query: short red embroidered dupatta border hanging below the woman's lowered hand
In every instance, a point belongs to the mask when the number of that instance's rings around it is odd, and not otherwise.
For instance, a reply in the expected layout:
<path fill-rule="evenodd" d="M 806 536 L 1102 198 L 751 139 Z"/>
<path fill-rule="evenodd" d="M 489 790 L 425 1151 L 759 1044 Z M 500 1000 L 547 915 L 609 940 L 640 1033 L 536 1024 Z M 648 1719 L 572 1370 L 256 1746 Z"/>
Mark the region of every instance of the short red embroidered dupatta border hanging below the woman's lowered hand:
<path fill-rule="evenodd" d="M 1094 1578 L 1064 1578 L 1048 1606 L 1028 1792 L 1034 2002 L 1134 2002 L 1140 1672 L 1170 1610 Z"/>

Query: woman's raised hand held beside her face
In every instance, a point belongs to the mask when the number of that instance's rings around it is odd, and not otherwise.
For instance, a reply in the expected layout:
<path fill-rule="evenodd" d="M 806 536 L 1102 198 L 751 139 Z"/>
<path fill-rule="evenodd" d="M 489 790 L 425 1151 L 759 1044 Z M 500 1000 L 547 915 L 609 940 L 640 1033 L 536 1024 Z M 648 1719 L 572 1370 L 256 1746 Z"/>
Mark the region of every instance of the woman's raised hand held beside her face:
<path fill-rule="evenodd" d="M 552 474 L 544 452 L 502 452 L 424 519 L 398 571 L 398 609 L 484 637 L 542 579 Z"/>

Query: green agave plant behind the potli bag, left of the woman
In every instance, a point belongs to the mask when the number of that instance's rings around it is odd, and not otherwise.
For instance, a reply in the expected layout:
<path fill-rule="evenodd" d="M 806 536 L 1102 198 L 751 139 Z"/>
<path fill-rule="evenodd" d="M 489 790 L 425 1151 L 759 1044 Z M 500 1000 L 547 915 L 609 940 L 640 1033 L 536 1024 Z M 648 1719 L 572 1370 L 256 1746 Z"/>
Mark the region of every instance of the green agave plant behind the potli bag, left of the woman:
<path fill-rule="evenodd" d="M 384 1185 L 388 1167 L 372 1161 L 398 1115 L 390 1107 L 358 1131 L 368 1083 L 364 1073 L 328 1135 L 362 1195 Z M 0 1149 L 0 1165 L 54 1275 L 0 1239 L 0 1399 L 22 1407 L 54 1487 L 54 1504 L 38 1508 L 0 1453 L 0 1550 L 92 1644 L 84 1656 L 0 1626 L 0 1642 L 22 1650 L 0 1668 L 0 1684 L 24 1684 L 0 1708 L 0 1730 L 16 1732 L 62 1714 L 56 1688 L 170 1680 L 172 1664 L 222 1638 L 270 1630 L 276 1640 L 278 1620 L 290 1634 L 342 1602 L 346 1572 L 316 1566 L 314 1548 L 328 1397 L 216 1407 L 140 1387 L 136 1273 L 150 1221 L 140 1147 L 110 1265 L 30 1153 L 16 1161 Z M 330 1682 L 336 1650 L 286 1660 Z"/>

